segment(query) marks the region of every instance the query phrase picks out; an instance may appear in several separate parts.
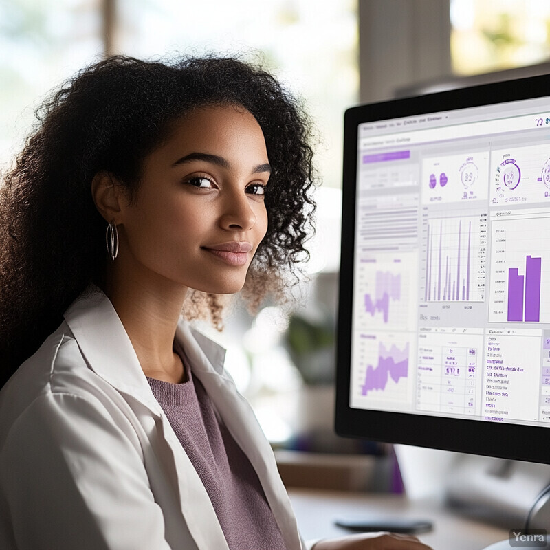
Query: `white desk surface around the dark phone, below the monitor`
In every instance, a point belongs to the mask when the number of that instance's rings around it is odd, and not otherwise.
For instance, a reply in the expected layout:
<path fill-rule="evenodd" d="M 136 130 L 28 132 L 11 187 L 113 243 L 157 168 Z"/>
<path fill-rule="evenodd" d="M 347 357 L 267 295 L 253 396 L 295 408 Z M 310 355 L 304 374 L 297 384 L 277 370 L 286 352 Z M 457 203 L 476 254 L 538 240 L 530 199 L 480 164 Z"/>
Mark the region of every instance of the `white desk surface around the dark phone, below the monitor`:
<path fill-rule="evenodd" d="M 305 540 L 347 534 L 350 531 L 334 525 L 334 518 L 369 512 L 430 520 L 433 531 L 419 538 L 434 550 L 482 550 L 508 538 L 505 529 L 458 516 L 435 503 L 411 503 L 400 495 L 289 489 L 289 496 Z"/>

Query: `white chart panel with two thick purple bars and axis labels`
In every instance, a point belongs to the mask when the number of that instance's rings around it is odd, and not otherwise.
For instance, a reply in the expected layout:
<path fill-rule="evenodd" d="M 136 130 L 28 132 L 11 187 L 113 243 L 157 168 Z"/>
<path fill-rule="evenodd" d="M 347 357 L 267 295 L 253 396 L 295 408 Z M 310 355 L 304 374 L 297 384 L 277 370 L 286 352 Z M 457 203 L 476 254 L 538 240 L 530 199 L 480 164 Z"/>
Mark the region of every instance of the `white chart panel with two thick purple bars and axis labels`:
<path fill-rule="evenodd" d="M 549 231 L 536 214 L 493 221 L 490 322 L 550 322 Z"/>

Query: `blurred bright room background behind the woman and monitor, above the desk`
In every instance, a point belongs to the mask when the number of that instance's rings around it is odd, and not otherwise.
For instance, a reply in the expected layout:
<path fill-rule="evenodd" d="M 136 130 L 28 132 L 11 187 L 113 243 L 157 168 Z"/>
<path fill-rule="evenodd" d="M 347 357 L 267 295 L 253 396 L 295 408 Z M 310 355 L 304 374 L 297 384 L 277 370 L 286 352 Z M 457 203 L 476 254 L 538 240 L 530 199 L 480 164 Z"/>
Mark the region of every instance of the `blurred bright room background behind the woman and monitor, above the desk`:
<path fill-rule="evenodd" d="M 47 91 L 80 67 L 109 54 L 207 52 L 261 63 L 303 98 L 320 138 L 322 186 L 299 305 L 267 303 L 250 318 L 236 304 L 223 333 L 203 330 L 228 348 L 228 369 L 278 449 L 287 483 L 399 492 L 388 446 L 332 432 L 344 110 L 549 72 L 550 2 L 0 0 L 1 170 Z M 295 468 L 304 456 L 311 476 Z"/>

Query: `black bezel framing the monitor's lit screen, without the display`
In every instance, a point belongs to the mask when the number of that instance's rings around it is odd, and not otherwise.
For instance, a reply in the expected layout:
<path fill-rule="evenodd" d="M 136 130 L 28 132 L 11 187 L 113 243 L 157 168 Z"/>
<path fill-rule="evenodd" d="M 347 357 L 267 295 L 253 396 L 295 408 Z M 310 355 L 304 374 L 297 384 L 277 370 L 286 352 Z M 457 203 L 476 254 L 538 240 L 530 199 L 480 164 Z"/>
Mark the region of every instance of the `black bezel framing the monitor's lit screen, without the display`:
<path fill-rule="evenodd" d="M 543 97 L 548 97 L 550 113 L 550 75 L 359 105 L 346 111 L 342 181 L 342 248 L 336 338 L 335 427 L 339 435 L 550 463 L 550 430 L 548 428 L 363 410 L 349 406 L 358 125 L 364 122 L 428 115 L 441 111 Z"/>

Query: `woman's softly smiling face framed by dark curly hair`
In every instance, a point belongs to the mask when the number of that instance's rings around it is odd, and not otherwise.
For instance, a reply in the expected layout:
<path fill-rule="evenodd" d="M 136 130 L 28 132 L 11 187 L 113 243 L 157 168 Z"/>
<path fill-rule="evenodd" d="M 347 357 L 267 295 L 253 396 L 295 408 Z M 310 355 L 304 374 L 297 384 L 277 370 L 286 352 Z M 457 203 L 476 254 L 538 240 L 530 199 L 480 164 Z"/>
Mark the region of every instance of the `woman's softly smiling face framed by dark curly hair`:
<path fill-rule="evenodd" d="M 115 262 L 132 276 L 238 292 L 267 230 L 269 177 L 265 140 L 252 114 L 233 105 L 192 111 L 146 157 L 135 201 L 117 220 Z"/>

